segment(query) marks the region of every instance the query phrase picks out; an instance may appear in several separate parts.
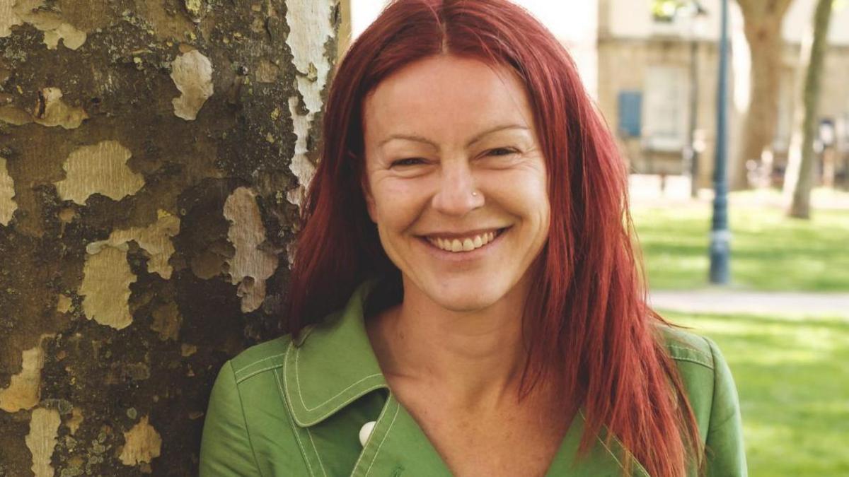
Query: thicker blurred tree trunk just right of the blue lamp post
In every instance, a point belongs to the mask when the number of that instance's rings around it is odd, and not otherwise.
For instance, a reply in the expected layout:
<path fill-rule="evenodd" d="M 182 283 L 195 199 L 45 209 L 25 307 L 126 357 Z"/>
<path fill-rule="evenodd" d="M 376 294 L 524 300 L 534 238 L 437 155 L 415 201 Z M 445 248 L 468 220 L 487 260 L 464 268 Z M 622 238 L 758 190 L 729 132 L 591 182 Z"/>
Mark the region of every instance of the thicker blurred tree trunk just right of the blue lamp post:
<path fill-rule="evenodd" d="M 771 150 L 779 115 L 779 72 L 784 38 L 781 24 L 791 0 L 738 0 L 751 53 L 750 102 L 731 187 L 748 188 L 746 163 Z"/>

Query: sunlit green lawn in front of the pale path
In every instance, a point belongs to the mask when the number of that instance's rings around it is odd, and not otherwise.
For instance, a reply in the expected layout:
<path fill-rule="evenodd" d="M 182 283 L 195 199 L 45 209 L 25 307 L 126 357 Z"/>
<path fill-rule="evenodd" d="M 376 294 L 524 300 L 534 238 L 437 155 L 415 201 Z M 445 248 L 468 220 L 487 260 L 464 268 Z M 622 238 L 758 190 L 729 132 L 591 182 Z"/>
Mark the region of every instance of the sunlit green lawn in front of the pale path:
<path fill-rule="evenodd" d="M 750 475 L 849 475 L 846 320 L 661 314 L 722 350 L 739 390 Z"/>

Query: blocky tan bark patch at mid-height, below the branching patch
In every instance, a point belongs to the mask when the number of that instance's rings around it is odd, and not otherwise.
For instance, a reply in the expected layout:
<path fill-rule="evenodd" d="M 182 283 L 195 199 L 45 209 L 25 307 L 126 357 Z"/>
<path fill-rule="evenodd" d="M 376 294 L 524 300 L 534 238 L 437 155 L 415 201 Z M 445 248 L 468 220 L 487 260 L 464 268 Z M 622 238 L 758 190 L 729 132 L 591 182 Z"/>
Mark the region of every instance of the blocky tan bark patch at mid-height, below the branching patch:
<path fill-rule="evenodd" d="M 127 250 L 102 246 L 94 255 L 87 255 L 82 273 L 80 295 L 84 295 L 86 317 L 115 329 L 130 326 L 130 283 L 136 276 L 127 263 Z"/>

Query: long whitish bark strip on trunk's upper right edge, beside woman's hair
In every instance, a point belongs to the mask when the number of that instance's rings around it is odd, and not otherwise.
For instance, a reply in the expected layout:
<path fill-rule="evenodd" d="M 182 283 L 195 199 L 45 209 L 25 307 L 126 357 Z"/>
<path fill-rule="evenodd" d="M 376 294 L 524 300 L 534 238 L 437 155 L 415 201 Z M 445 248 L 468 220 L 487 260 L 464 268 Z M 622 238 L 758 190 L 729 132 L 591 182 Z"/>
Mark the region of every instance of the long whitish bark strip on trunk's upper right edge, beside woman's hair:
<path fill-rule="evenodd" d="M 330 59 L 325 55 L 316 55 L 315 52 L 323 51 L 324 43 L 335 35 L 330 20 L 334 6 L 335 2 L 330 0 L 286 2 L 286 23 L 290 28 L 286 44 L 292 52 L 295 69 L 300 73 L 296 80 L 297 87 L 308 111 L 306 116 L 298 115 L 297 98 L 289 99 L 292 126 L 297 137 L 290 168 L 301 185 L 287 195 L 290 202 L 299 207 L 303 203 L 304 188 L 312 181 L 315 173 L 315 167 L 306 159 L 306 137 L 312 118 L 322 108 L 321 92 L 330 70 Z"/>

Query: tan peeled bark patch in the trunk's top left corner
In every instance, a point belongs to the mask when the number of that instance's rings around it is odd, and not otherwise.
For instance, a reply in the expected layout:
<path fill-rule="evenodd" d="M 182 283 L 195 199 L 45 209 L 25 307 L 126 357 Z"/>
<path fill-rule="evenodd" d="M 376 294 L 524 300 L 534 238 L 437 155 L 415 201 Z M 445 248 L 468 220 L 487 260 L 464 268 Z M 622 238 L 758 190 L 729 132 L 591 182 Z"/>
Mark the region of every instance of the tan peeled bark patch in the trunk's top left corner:
<path fill-rule="evenodd" d="M 8 12 L 9 19 L 4 20 L 4 3 L 11 7 Z M 0 37 L 11 35 L 9 26 L 28 23 L 44 32 L 44 44 L 48 49 L 56 49 L 59 40 L 62 40 L 65 48 L 76 50 L 86 42 L 86 32 L 77 30 L 73 25 L 62 20 L 59 14 L 41 9 L 44 0 L 18 0 L 12 6 L 14 0 L 0 0 Z M 6 24 L 8 22 L 8 25 Z M 3 25 L 6 25 L 5 28 Z"/>

